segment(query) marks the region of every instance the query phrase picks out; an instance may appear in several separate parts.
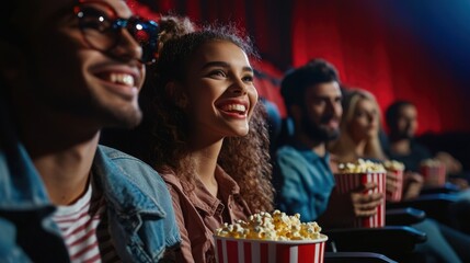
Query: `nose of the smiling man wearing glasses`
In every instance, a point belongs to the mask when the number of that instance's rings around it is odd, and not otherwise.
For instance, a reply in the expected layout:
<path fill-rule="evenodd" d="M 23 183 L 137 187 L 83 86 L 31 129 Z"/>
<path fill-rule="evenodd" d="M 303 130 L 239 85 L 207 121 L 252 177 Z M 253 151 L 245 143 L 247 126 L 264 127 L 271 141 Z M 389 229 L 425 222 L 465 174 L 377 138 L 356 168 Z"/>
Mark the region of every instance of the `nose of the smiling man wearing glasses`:
<path fill-rule="evenodd" d="M 121 38 L 117 46 L 112 50 L 113 55 L 119 60 L 140 60 L 142 57 L 142 47 L 137 43 L 128 30 L 121 30 Z"/>

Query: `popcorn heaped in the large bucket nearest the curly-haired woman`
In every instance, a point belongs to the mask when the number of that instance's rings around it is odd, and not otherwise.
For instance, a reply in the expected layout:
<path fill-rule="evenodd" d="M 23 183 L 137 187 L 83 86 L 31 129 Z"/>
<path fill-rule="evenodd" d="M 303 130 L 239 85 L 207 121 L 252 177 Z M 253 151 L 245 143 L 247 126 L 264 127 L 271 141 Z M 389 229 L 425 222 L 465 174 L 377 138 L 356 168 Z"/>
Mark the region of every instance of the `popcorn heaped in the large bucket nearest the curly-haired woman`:
<path fill-rule="evenodd" d="M 271 215 L 261 211 L 248 221 L 237 220 L 216 229 L 216 236 L 259 240 L 314 240 L 320 238 L 321 227 L 317 222 L 301 222 L 300 215 L 287 216 L 279 210 Z"/>

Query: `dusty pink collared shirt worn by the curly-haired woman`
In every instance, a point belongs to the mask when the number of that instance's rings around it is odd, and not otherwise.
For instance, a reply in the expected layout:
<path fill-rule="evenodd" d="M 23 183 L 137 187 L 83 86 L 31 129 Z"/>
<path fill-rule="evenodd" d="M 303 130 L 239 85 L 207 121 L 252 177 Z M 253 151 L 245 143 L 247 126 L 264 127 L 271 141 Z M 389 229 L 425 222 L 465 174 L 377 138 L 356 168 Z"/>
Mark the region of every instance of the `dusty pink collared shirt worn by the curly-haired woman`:
<path fill-rule="evenodd" d="M 182 237 L 176 262 L 216 262 L 213 233 L 223 222 L 247 219 L 251 213 L 240 196 L 240 187 L 220 167 L 216 169 L 218 197 L 200 181 L 194 191 L 183 190 L 174 173 L 161 173 L 173 198 L 174 213 Z"/>

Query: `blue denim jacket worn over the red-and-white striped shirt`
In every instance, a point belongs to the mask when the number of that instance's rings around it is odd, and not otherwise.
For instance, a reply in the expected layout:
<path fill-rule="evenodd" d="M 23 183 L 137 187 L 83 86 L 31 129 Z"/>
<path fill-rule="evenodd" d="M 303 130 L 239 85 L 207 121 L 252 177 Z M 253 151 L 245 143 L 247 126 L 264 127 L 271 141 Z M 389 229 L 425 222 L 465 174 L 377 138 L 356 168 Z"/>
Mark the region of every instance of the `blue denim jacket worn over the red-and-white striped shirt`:
<path fill-rule="evenodd" d="M 181 242 L 171 196 L 142 161 L 99 146 L 93 178 L 106 199 L 111 237 L 123 262 L 158 262 Z M 0 149 L 0 262 L 69 262 L 51 205 L 25 149 Z"/>

